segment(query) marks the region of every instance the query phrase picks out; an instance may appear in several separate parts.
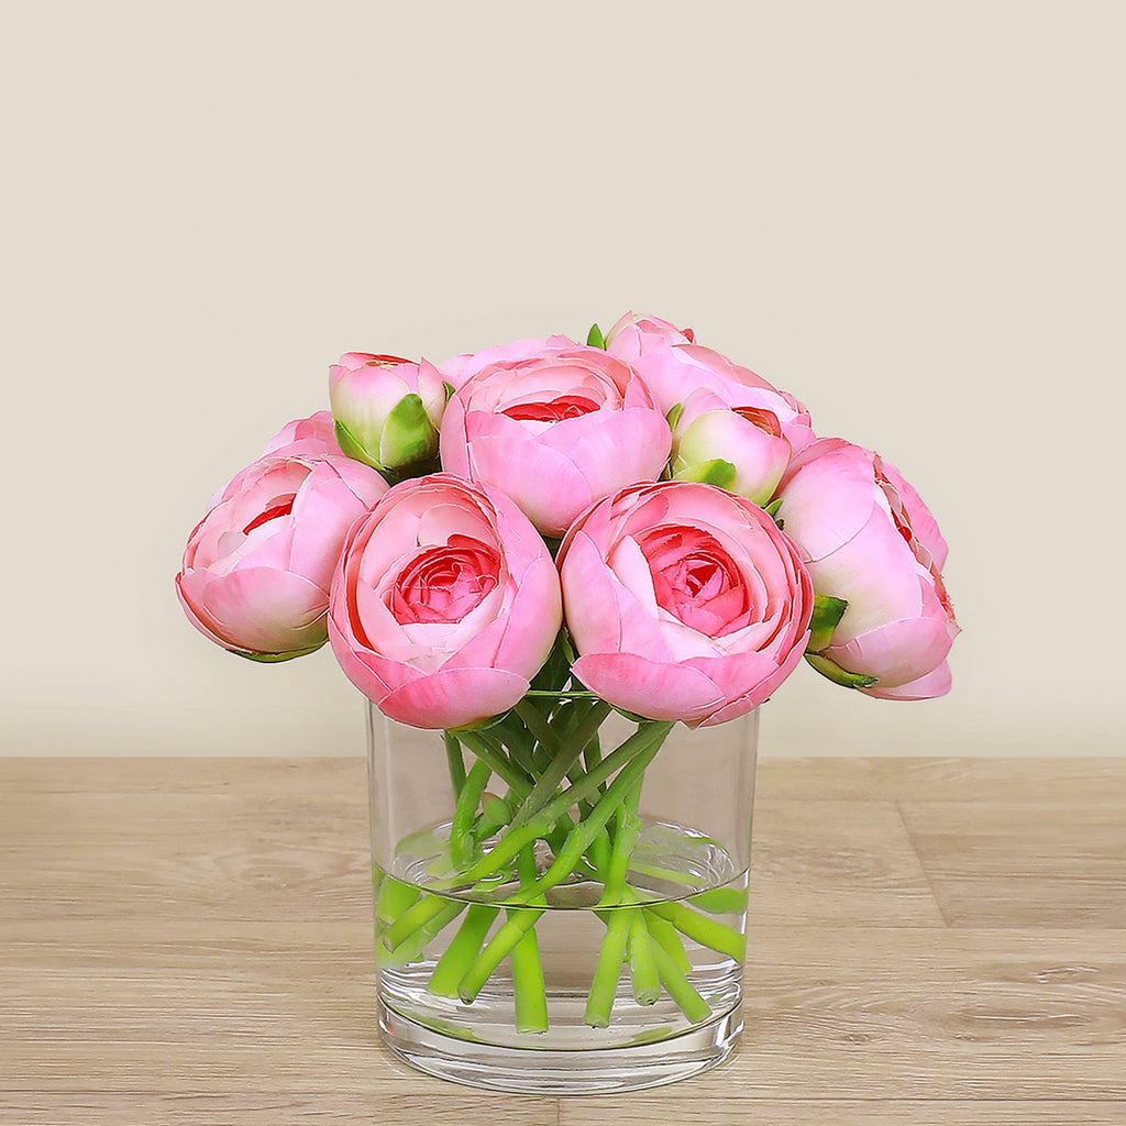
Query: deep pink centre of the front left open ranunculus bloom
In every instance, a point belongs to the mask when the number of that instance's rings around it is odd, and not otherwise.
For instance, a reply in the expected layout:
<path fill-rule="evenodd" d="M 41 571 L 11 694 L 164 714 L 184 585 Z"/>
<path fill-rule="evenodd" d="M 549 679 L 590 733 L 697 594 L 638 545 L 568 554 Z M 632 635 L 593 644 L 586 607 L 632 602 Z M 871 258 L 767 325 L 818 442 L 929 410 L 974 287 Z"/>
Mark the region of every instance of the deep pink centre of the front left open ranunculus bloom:
<path fill-rule="evenodd" d="M 387 608 L 400 625 L 461 622 L 497 586 L 500 555 L 468 536 L 419 552 L 387 592 Z"/>

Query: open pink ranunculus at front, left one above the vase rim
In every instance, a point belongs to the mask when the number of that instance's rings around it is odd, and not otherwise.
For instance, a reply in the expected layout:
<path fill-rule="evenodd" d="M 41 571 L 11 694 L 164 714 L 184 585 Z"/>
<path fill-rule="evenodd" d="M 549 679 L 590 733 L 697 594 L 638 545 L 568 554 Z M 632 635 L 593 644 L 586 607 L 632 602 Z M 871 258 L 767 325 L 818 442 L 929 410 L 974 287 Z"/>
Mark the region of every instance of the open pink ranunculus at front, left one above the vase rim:
<path fill-rule="evenodd" d="M 517 704 L 561 620 L 558 575 L 527 517 L 437 473 L 395 485 L 352 528 L 329 637 L 384 715 L 453 729 Z"/>

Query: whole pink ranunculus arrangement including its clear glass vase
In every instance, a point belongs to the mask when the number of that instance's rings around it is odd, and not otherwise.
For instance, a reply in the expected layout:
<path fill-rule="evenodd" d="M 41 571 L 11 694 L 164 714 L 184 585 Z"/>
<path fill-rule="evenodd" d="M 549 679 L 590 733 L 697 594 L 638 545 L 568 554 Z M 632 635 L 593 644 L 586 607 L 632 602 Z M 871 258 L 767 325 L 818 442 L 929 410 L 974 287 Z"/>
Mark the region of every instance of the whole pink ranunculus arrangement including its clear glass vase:
<path fill-rule="evenodd" d="M 935 519 L 655 318 L 349 352 L 329 394 L 212 498 L 177 591 L 251 660 L 329 641 L 369 701 L 385 1040 L 500 1089 L 716 1063 L 756 709 L 803 656 L 877 698 L 949 689 Z"/>

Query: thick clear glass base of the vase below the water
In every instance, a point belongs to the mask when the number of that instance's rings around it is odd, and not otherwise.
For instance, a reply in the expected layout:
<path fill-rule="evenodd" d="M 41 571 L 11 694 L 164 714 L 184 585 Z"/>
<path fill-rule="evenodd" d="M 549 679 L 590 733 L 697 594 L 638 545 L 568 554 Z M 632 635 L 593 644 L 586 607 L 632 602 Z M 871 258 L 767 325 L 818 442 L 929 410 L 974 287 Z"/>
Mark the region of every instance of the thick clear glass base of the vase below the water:
<path fill-rule="evenodd" d="M 743 1029 L 742 1007 L 665 1039 L 627 1047 L 511 1048 L 447 1036 L 379 1006 L 383 1043 L 439 1079 L 519 1094 L 608 1094 L 674 1083 L 727 1057 Z"/>

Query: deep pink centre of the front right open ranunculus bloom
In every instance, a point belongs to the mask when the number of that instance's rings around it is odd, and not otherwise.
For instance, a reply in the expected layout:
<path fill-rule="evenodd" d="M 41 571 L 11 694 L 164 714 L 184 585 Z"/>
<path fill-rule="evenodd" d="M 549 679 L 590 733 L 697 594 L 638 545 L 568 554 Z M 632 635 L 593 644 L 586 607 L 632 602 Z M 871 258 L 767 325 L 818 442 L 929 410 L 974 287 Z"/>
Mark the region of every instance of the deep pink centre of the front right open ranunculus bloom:
<path fill-rule="evenodd" d="M 686 626 L 722 637 L 747 624 L 750 591 L 715 536 L 698 528 L 654 528 L 637 538 L 656 604 Z"/>

